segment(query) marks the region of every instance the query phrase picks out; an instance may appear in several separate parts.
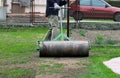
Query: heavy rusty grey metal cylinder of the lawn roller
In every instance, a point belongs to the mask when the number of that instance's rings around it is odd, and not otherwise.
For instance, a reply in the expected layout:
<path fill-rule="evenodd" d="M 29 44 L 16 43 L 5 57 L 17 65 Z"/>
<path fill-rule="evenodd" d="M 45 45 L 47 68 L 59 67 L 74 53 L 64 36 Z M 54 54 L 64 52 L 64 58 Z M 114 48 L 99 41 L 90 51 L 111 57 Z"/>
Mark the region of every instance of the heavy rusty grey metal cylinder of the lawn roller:
<path fill-rule="evenodd" d="M 40 42 L 40 57 L 87 57 L 88 41 L 45 41 Z"/>

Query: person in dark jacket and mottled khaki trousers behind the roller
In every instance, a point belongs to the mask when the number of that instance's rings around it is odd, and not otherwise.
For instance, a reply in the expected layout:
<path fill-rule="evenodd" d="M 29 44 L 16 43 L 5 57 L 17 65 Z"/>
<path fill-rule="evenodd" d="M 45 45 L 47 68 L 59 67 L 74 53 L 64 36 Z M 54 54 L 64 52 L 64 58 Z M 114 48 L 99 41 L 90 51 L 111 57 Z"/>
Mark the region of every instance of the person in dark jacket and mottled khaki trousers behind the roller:
<path fill-rule="evenodd" d="M 59 34 L 59 20 L 58 13 L 61 6 L 67 3 L 66 0 L 47 0 L 46 1 L 46 17 L 48 18 L 48 23 L 50 29 L 48 31 L 48 40 L 53 40 Z"/>

